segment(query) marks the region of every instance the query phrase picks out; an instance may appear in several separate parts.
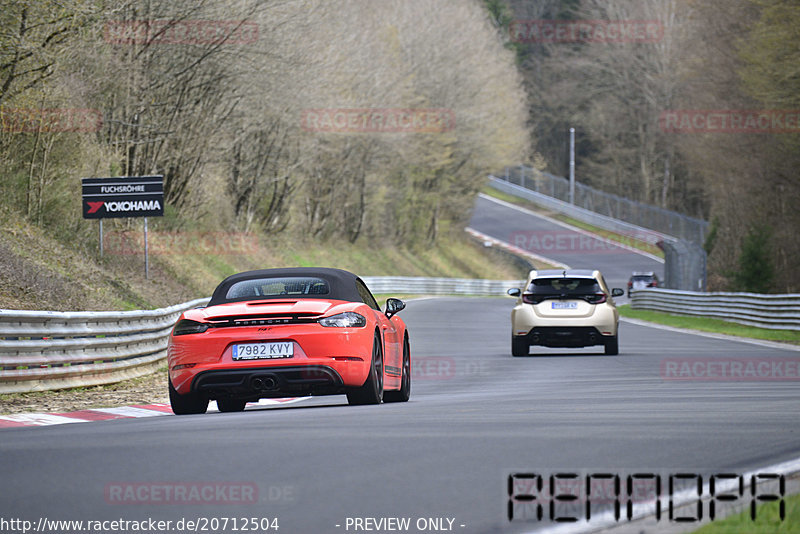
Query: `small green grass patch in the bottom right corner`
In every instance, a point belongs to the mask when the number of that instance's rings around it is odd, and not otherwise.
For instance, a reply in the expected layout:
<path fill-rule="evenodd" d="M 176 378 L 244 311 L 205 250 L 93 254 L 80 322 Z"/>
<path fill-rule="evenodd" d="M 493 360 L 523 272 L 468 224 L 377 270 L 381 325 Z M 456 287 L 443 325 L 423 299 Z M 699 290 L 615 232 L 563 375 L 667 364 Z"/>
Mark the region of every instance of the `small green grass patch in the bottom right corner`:
<path fill-rule="evenodd" d="M 747 510 L 740 514 L 714 521 L 695 531 L 695 534 L 784 534 L 800 533 L 800 495 L 785 498 L 786 515 L 783 520 L 777 502 L 761 504 L 756 508 L 756 518 Z"/>

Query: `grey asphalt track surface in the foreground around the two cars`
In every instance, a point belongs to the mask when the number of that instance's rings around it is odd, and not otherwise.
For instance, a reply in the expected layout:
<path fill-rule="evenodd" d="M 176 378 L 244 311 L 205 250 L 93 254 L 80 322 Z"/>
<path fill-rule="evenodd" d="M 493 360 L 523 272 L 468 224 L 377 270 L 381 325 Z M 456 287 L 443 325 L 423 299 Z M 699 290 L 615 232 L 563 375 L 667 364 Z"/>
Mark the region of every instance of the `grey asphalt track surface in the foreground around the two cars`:
<path fill-rule="evenodd" d="M 796 380 L 661 375 L 666 358 L 796 352 L 623 323 L 619 356 L 534 349 L 513 358 L 513 302 L 410 302 L 407 404 L 350 407 L 337 396 L 243 413 L 0 430 L 2 515 L 34 523 L 277 517 L 283 533 L 355 531 L 347 518 L 408 517 L 412 526 L 450 518 L 457 532 L 526 531 L 552 523 L 508 522 L 511 471 L 746 471 L 798 456 Z M 204 504 L 148 496 L 152 486 L 212 482 L 255 488 L 255 502 L 224 492 Z M 144 502 L 115 497 L 115 488 L 131 487 L 150 493 Z"/>

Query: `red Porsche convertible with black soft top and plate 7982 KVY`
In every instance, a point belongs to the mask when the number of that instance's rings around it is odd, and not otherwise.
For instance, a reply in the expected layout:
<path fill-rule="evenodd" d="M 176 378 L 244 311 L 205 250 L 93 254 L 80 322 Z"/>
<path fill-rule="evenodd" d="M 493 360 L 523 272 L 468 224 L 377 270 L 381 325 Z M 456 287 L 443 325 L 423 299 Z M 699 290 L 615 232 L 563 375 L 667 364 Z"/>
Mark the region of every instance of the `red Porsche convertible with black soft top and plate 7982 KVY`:
<path fill-rule="evenodd" d="M 169 340 L 176 414 L 222 412 L 269 397 L 346 394 L 350 404 L 404 402 L 411 392 L 408 331 L 388 299 L 381 311 L 356 275 L 340 269 L 229 276 L 208 305 L 185 312 Z"/>

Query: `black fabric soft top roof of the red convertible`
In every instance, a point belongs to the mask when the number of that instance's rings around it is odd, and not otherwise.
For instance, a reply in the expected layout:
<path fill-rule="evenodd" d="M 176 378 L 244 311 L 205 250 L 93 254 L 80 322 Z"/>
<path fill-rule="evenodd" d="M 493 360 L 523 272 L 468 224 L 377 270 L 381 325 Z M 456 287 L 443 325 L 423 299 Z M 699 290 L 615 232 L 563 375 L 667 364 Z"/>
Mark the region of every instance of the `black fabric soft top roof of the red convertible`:
<path fill-rule="evenodd" d="M 326 295 L 292 295 L 291 298 L 317 298 L 324 300 L 345 300 L 349 302 L 363 302 L 361 295 L 356 289 L 356 280 L 359 278 L 351 272 L 342 269 L 331 269 L 328 267 L 294 267 L 289 269 L 260 269 L 257 271 L 247 271 L 244 273 L 232 274 L 217 286 L 214 294 L 211 295 L 209 306 L 224 304 L 226 302 L 237 302 L 242 300 L 254 300 L 253 297 L 247 298 L 226 298 L 230 287 L 243 280 L 256 280 L 259 278 L 285 278 L 290 276 L 313 276 L 322 278 L 328 282 L 330 293 Z M 363 282 L 362 282 L 363 283 Z M 286 296 L 278 295 L 273 297 L 258 297 L 258 300 L 270 298 L 286 299 Z"/>

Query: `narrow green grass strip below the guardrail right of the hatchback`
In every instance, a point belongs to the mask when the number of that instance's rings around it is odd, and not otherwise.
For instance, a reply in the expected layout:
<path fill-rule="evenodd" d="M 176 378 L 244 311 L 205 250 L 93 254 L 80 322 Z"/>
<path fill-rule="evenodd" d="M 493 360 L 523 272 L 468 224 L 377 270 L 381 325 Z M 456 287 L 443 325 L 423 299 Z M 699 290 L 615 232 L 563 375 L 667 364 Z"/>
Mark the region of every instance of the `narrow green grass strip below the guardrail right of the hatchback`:
<path fill-rule="evenodd" d="M 676 328 L 688 328 L 690 330 L 700 330 L 715 334 L 800 344 L 800 332 L 796 330 L 770 330 L 768 328 L 746 326 L 730 321 L 723 321 L 721 319 L 710 319 L 708 317 L 690 317 L 651 310 L 634 310 L 631 308 L 630 304 L 618 306 L 617 309 L 622 317 L 641 319 L 642 321 L 674 326 Z"/>

